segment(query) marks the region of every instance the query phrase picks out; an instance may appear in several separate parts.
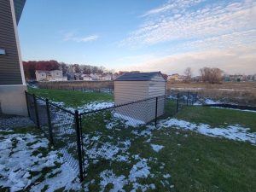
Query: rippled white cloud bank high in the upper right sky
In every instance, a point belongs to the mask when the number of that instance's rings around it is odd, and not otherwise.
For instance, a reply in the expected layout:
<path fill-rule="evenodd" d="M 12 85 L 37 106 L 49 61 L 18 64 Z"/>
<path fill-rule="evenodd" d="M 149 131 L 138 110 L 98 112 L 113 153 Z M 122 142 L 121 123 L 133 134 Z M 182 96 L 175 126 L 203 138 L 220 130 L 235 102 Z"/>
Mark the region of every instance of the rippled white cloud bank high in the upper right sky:
<path fill-rule="evenodd" d="M 193 41 L 256 29 L 256 3 L 253 0 L 236 3 L 169 1 L 143 16 L 143 25 L 131 32 L 121 45 L 139 47 L 177 40 Z"/>

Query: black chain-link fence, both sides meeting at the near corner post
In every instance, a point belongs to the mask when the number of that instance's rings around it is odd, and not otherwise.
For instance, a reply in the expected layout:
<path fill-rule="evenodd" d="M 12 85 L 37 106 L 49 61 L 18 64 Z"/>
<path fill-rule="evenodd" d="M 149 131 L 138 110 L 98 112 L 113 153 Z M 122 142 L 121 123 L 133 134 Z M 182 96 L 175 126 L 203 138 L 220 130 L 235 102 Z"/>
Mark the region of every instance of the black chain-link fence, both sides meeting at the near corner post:
<path fill-rule="evenodd" d="M 91 164 L 101 159 L 108 160 L 111 156 L 111 150 L 108 150 L 108 145 L 106 147 L 109 137 L 118 141 L 125 136 L 125 128 L 140 127 L 148 123 L 157 126 L 157 119 L 164 115 L 166 102 L 170 100 L 174 101 L 174 108 L 167 110 L 178 111 L 183 106 L 193 104 L 195 95 L 188 92 L 175 93 L 81 113 L 61 108 L 48 99 L 26 92 L 30 119 L 44 132 L 49 143 L 61 151 L 67 163 L 78 172 L 81 181 L 86 177 L 86 170 Z M 113 134 L 113 130 L 118 133 Z M 94 133 L 95 138 L 100 135 L 102 140 L 88 137 Z M 96 145 L 103 146 L 102 154 L 93 150 Z"/>

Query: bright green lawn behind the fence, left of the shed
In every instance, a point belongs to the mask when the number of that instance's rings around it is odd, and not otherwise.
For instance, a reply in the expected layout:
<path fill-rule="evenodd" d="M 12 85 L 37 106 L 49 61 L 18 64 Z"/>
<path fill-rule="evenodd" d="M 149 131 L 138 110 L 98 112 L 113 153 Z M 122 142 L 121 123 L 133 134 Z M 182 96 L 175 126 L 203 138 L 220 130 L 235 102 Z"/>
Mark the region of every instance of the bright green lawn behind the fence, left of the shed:
<path fill-rule="evenodd" d="M 110 102 L 113 101 L 113 96 L 108 93 L 83 93 L 79 90 L 47 90 L 47 89 L 32 89 L 28 88 L 28 92 L 48 98 L 55 102 L 64 102 L 68 107 L 79 107 L 89 102 Z"/>

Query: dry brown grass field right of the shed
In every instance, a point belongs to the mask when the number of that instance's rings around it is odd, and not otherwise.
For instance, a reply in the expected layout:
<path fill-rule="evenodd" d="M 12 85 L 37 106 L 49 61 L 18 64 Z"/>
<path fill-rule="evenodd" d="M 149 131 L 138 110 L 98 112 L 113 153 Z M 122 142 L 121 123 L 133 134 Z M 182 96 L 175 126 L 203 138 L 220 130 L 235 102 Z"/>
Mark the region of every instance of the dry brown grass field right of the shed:
<path fill-rule="evenodd" d="M 240 105 L 256 106 L 256 82 L 229 82 L 223 84 L 167 82 L 167 90 L 189 90 L 199 96 L 222 102 L 235 102 Z"/>

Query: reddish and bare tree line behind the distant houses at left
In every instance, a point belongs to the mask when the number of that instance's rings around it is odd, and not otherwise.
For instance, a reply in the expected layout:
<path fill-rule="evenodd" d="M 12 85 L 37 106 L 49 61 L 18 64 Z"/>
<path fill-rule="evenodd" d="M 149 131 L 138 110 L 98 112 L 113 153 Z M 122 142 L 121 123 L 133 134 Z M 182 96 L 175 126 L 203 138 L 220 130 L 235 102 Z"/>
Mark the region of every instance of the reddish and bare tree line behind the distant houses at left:
<path fill-rule="evenodd" d="M 105 67 L 90 65 L 67 64 L 65 62 L 50 61 L 23 61 L 23 68 L 26 80 L 36 79 L 36 71 L 61 70 L 63 75 L 67 73 L 113 73 L 113 70 L 107 70 Z"/>

